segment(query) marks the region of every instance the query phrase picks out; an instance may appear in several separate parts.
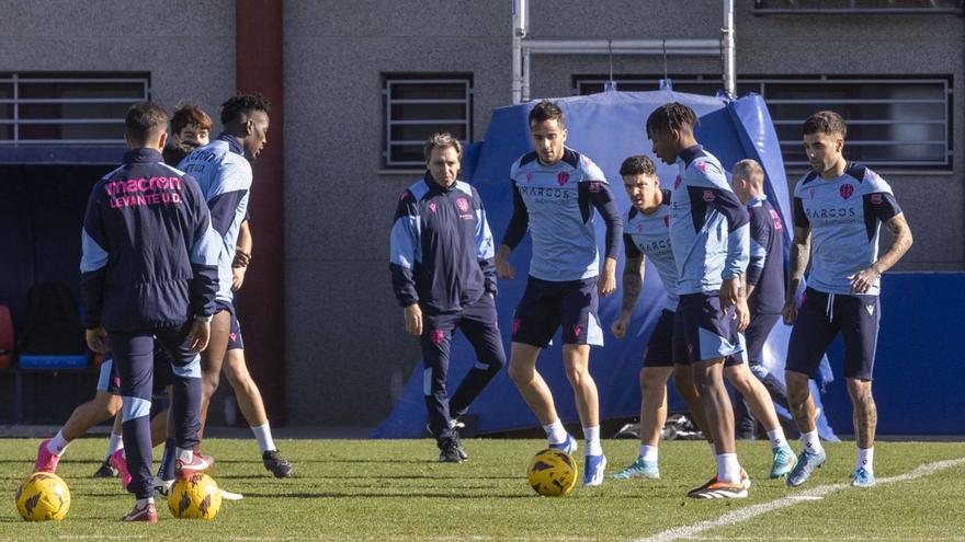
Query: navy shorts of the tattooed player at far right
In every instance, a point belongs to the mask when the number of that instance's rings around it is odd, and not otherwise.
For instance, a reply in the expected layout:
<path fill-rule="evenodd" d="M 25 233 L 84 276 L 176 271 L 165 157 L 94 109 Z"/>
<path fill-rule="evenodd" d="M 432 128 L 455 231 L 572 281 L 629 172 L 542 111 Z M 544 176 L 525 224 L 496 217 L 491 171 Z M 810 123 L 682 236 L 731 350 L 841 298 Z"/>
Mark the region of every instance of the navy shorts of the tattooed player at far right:
<path fill-rule="evenodd" d="M 844 378 L 872 380 L 881 312 L 877 296 L 825 293 L 807 288 L 791 330 L 785 369 L 817 377 L 821 358 L 841 333 Z"/>

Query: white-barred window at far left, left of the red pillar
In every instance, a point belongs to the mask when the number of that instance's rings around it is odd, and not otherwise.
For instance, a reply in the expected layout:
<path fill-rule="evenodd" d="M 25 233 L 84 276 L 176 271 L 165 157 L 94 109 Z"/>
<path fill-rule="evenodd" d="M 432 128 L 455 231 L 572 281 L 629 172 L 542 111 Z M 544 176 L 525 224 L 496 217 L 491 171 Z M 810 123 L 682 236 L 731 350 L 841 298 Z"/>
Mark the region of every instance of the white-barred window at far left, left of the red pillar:
<path fill-rule="evenodd" d="M 123 146 L 147 74 L 0 73 L 0 146 Z"/>

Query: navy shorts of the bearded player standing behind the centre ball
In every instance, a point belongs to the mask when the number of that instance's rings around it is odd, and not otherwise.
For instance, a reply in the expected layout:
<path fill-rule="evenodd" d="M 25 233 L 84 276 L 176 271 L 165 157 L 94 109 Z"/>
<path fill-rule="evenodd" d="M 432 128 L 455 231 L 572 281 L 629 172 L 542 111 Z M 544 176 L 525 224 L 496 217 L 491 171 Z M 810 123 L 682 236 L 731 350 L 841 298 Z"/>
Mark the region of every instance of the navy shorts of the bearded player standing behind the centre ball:
<path fill-rule="evenodd" d="M 530 277 L 513 314 L 512 341 L 545 348 L 561 325 L 563 344 L 603 346 L 598 303 L 597 277 L 566 281 Z"/>

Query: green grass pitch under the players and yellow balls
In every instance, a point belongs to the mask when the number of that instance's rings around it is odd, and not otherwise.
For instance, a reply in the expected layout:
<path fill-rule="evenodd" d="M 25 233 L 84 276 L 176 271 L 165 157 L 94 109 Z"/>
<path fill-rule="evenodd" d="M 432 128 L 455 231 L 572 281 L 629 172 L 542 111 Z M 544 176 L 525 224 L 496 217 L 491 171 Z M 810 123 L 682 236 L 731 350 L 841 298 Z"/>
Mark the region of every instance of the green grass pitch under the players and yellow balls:
<path fill-rule="evenodd" d="M 253 440 L 212 439 L 205 451 L 217 459 L 213 477 L 245 499 L 225 501 L 209 522 L 177 520 L 159 503 L 161 520 L 148 526 L 121 523 L 134 499 L 116 478 L 90 477 L 104 450 L 104 439 L 96 438 L 72 443 L 60 463 L 71 491 L 67 519 L 26 523 L 13 497 L 33 465 L 37 442 L 0 440 L 8 495 L 0 506 L 0 540 L 628 541 L 847 482 L 854 463 L 853 443 L 828 445 L 828 463 L 792 491 L 783 481 L 768 480 L 767 442 L 740 442 L 739 458 L 753 482 L 750 498 L 696 501 L 684 494 L 712 475 L 709 450 L 703 442 L 670 441 L 660 448 L 659 481 L 608 480 L 602 487 L 578 486 L 568 497 L 546 498 L 525 480 L 530 457 L 544 441 L 465 440 L 469 461 L 440 464 L 429 440 L 282 440 L 296 476 L 275 480 L 261 465 Z M 613 473 L 633 461 L 637 442 L 604 441 L 603 447 Z M 890 477 L 963 457 L 963 442 L 881 442 L 875 474 Z M 960 463 L 917 480 L 801 500 L 694 539 L 965 541 L 963 494 L 965 465 Z"/>

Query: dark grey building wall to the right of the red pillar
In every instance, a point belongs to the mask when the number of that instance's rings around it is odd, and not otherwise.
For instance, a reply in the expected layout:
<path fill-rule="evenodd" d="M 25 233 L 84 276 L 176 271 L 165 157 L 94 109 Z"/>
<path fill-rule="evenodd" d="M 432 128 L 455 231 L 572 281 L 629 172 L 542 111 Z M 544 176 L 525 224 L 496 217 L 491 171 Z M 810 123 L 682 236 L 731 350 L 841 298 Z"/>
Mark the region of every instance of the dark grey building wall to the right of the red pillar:
<path fill-rule="evenodd" d="M 737 3 L 739 73 L 952 74 L 962 87 L 961 18 L 753 16 L 750 0 Z M 534 0 L 531 34 L 707 38 L 719 35 L 723 18 L 720 2 L 706 0 L 600 5 Z M 492 108 L 510 103 L 510 2 L 290 0 L 285 11 L 287 416 L 295 424 L 370 425 L 387 414 L 419 359 L 387 269 L 395 201 L 418 172 L 381 170 L 382 73 L 472 72 L 473 132 L 481 139 Z M 534 97 L 567 96 L 572 76 L 608 73 L 609 61 L 534 56 L 532 71 Z M 668 71 L 714 74 L 720 61 L 671 57 Z M 663 60 L 617 56 L 614 72 L 659 76 Z M 955 112 L 963 111 L 962 96 L 954 94 Z M 954 173 L 884 172 L 916 234 L 899 268 L 965 266 L 965 123 L 957 119 Z M 790 176 L 793 183 L 798 175 Z"/>

